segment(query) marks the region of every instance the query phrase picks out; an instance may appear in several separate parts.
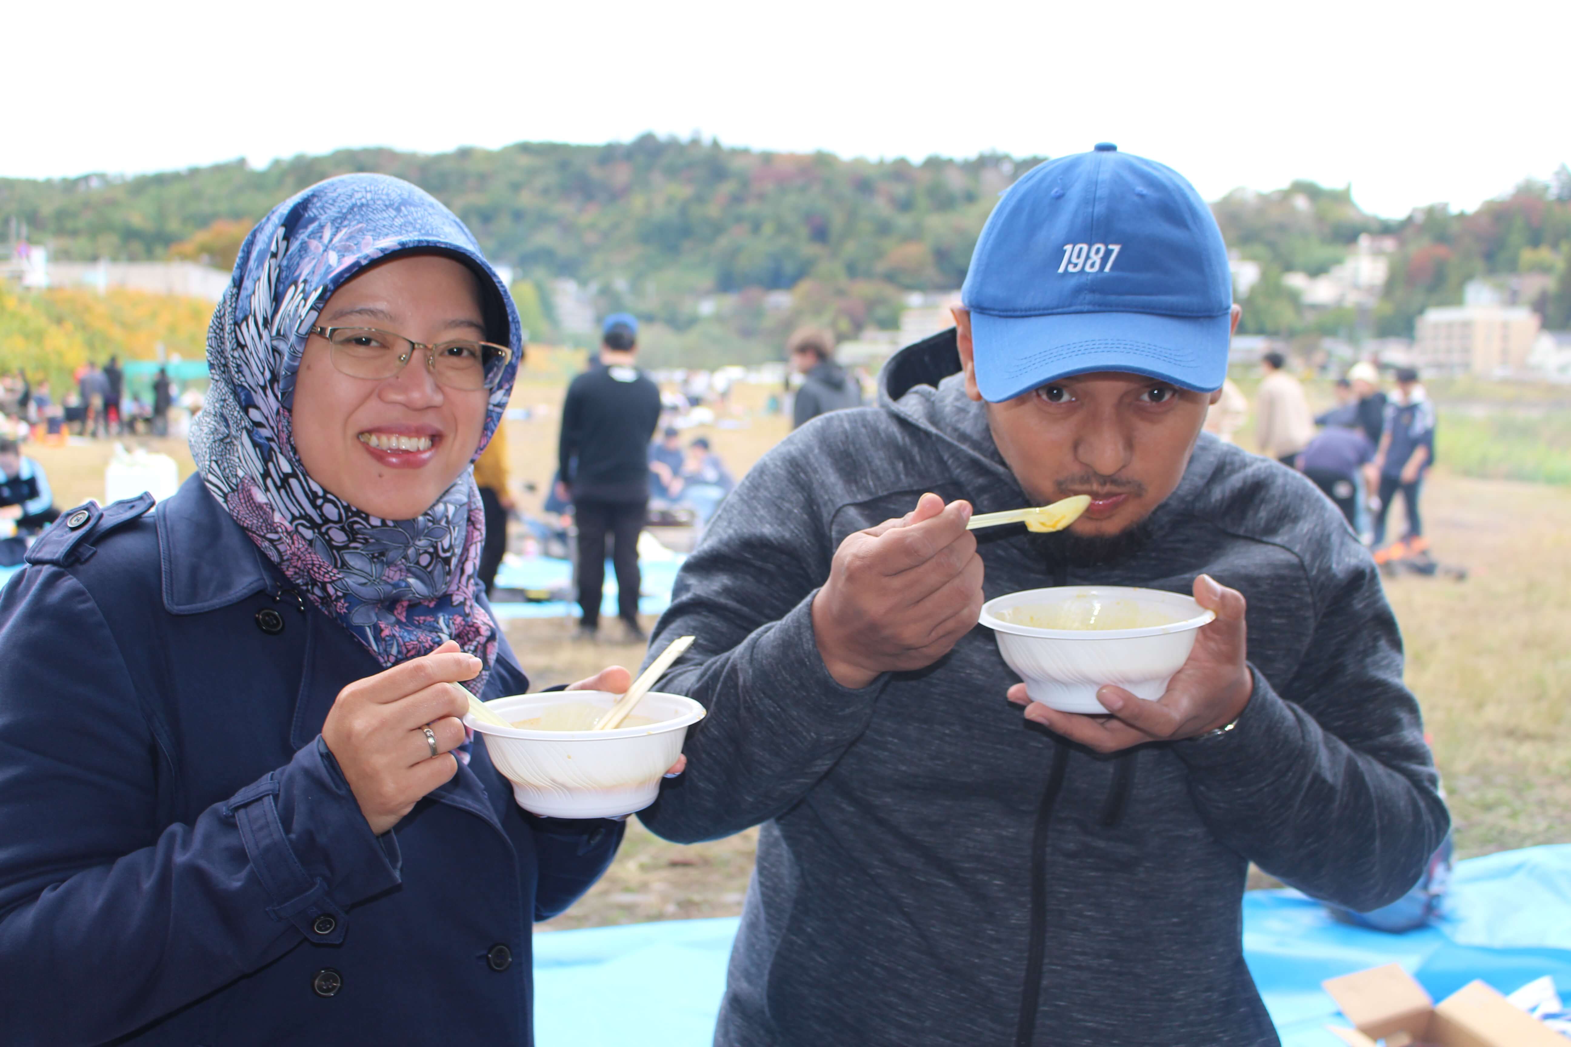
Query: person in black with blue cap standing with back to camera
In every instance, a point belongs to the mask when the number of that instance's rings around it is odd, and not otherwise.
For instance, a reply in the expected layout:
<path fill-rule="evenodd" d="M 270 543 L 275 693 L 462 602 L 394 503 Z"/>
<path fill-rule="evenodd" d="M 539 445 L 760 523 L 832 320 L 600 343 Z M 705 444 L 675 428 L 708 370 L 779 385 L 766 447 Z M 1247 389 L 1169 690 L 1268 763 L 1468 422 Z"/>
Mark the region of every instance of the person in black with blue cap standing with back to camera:
<path fill-rule="evenodd" d="M 605 537 L 611 534 L 617 615 L 627 639 L 646 639 L 638 625 L 638 534 L 649 509 L 649 440 L 660 424 L 660 389 L 633 366 L 638 320 L 605 319 L 600 361 L 567 386 L 558 444 L 558 496 L 572 501 L 578 523 L 578 636 L 600 629 Z"/>

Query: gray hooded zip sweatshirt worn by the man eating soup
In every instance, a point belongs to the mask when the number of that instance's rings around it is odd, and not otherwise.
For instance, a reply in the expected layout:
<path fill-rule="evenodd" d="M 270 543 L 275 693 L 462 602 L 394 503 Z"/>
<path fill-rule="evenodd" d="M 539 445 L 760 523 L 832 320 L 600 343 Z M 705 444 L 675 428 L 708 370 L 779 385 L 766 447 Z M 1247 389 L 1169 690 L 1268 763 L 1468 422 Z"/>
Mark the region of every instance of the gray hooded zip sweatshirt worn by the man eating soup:
<path fill-rule="evenodd" d="M 1373 909 L 1448 816 L 1379 575 L 1293 469 L 1202 435 L 1152 538 L 1095 568 L 979 534 L 988 598 L 1064 584 L 1249 601 L 1254 695 L 1219 738 L 1101 757 L 1021 717 L 976 628 L 850 691 L 809 607 L 848 534 L 924 491 L 1026 504 L 965 396 L 954 334 L 900 353 L 878 407 L 767 454 L 677 578 L 650 650 L 709 708 L 641 818 L 677 841 L 762 824 L 715 1042 L 726 1047 L 1277 1044 L 1244 965 L 1246 866 Z M 943 380 L 941 380 L 943 378 Z"/>

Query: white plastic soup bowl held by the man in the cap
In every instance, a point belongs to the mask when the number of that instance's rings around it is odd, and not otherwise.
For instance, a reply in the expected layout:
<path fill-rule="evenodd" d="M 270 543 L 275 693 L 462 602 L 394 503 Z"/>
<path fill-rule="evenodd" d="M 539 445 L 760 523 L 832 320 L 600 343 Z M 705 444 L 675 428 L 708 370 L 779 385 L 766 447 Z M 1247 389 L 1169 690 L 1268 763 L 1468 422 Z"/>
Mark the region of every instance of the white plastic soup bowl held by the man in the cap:
<path fill-rule="evenodd" d="M 1084 618 L 1111 615 L 1166 618 L 1166 625 L 1122 629 L 1037 628 L 1010 622 L 1009 612 L 1040 606 L 1049 614 Z M 1167 691 L 1194 648 L 1196 629 L 1214 618 L 1192 596 L 1125 586 L 1027 589 L 982 604 L 982 625 L 993 629 L 1004 661 L 1026 681 L 1032 702 L 1064 713 L 1104 714 L 1097 689 L 1112 683 L 1155 702 Z"/>

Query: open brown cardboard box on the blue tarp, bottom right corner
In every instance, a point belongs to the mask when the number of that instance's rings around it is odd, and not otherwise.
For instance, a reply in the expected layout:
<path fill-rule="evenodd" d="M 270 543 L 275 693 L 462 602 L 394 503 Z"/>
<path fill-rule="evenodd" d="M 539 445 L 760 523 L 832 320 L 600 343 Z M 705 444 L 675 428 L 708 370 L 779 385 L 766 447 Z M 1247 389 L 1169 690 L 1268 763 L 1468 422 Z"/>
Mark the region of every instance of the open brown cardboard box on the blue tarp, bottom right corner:
<path fill-rule="evenodd" d="M 1483 981 L 1439 1005 L 1400 964 L 1320 983 L 1357 1028 L 1332 1028 L 1348 1047 L 1571 1047 L 1571 1041 L 1516 1008 Z"/>

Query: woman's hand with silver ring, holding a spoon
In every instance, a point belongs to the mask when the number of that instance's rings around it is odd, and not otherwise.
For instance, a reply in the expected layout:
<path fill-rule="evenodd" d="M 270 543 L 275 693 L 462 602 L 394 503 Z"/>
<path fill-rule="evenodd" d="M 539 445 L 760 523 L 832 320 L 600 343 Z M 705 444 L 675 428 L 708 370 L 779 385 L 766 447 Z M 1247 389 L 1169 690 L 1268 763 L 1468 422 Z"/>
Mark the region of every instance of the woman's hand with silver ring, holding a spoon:
<path fill-rule="evenodd" d="M 459 717 L 470 708 L 459 681 L 473 680 L 481 664 L 448 640 L 423 658 L 338 692 L 322 724 L 322 741 L 338 760 L 371 832 L 380 837 L 423 796 L 457 774 L 459 761 L 451 750 L 463 744 Z M 435 755 L 427 727 L 437 739 Z"/>

